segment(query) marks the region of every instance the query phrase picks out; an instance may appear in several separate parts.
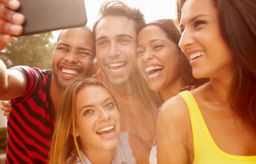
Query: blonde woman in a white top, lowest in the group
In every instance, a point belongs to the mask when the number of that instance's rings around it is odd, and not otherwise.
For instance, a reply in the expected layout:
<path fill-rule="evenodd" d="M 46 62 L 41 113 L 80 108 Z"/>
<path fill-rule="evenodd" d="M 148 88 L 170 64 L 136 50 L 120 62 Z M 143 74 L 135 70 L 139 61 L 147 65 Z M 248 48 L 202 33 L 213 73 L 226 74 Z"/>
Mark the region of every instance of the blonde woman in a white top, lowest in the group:
<path fill-rule="evenodd" d="M 96 79 L 78 77 L 69 83 L 56 111 L 49 163 L 136 163 L 127 136 L 120 132 L 116 101 L 108 88 Z"/>

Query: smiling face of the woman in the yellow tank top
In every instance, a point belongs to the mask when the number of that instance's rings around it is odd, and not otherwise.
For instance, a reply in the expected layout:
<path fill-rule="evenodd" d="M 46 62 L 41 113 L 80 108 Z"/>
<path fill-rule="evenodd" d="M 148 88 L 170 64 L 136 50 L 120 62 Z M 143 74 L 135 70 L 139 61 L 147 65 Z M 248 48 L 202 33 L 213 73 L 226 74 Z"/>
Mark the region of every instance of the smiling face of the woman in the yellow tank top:
<path fill-rule="evenodd" d="M 181 9 L 179 46 L 196 78 L 233 74 L 235 62 L 219 29 L 212 0 L 187 0 Z"/>

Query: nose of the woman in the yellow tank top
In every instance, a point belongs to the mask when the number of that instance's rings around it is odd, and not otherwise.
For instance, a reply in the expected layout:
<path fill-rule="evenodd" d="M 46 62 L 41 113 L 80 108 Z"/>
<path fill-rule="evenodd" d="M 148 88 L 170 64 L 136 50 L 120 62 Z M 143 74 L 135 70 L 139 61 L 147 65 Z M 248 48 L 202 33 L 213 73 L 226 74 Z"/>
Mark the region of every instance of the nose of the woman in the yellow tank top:
<path fill-rule="evenodd" d="M 194 41 L 195 40 L 192 36 L 192 33 L 185 29 L 181 34 L 181 39 L 178 42 L 178 47 L 180 47 L 181 50 L 184 52 L 184 50 L 189 49 L 189 46 L 191 46 Z"/>

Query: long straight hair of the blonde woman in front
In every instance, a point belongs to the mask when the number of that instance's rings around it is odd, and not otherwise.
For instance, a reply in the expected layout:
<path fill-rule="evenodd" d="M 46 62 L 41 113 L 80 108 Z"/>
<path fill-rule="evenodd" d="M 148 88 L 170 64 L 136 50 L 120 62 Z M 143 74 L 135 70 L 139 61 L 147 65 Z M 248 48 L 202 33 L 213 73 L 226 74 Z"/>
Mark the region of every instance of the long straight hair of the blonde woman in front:
<path fill-rule="evenodd" d="M 56 108 L 56 123 L 50 147 L 49 164 L 78 163 L 78 157 L 84 164 L 80 155 L 80 139 L 77 139 L 75 135 L 75 100 L 78 92 L 84 87 L 101 86 L 108 90 L 108 87 L 99 80 L 86 77 L 76 77 L 67 86 Z M 110 93 L 109 90 L 108 93 Z M 110 95 L 113 97 L 112 93 Z M 115 101 L 114 97 L 113 100 Z"/>

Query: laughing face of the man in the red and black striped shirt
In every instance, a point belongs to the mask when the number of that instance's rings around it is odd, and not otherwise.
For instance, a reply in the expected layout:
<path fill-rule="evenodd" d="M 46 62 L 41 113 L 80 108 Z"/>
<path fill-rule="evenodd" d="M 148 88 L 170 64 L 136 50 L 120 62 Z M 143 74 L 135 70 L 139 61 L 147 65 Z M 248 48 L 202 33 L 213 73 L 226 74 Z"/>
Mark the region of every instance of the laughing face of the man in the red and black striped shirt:
<path fill-rule="evenodd" d="M 53 52 L 53 77 L 61 87 L 77 76 L 91 77 L 94 69 L 94 37 L 83 28 L 61 32 Z"/>

